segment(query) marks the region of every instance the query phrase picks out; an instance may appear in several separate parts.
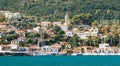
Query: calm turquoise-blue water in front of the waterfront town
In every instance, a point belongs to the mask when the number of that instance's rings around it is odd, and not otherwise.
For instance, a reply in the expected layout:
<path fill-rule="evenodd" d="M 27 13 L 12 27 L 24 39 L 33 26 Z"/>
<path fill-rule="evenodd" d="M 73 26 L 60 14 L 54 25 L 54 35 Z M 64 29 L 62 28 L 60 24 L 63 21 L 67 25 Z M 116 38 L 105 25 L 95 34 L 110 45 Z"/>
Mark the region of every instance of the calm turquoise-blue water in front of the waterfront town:
<path fill-rule="evenodd" d="M 0 66 L 120 66 L 120 56 L 4 56 Z"/>

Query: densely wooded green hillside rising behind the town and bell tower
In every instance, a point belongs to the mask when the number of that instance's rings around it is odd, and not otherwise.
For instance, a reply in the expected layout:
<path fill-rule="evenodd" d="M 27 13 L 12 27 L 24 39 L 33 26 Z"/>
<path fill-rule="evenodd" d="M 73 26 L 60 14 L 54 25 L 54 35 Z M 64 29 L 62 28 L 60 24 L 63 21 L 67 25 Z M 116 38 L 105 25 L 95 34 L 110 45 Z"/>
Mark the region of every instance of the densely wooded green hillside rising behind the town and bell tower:
<path fill-rule="evenodd" d="M 90 13 L 94 19 L 119 19 L 120 0 L 0 0 L 0 10 L 18 11 L 51 21 L 63 19 L 66 11 L 70 17 Z"/>

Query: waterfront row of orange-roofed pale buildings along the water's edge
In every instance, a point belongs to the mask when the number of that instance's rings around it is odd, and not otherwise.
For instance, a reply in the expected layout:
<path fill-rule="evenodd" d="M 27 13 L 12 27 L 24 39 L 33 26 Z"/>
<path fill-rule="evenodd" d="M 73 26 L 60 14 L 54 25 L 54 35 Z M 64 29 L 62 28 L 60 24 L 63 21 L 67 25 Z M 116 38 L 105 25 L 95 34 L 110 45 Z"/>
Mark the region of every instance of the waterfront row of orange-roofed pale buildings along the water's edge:
<path fill-rule="evenodd" d="M 81 46 L 73 49 L 62 49 L 60 44 L 51 46 L 19 47 L 19 45 L 0 45 L 0 56 L 81 56 L 81 55 L 120 55 L 120 48 L 111 47 L 108 43 L 99 47 Z"/>

